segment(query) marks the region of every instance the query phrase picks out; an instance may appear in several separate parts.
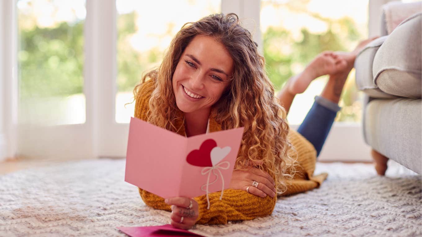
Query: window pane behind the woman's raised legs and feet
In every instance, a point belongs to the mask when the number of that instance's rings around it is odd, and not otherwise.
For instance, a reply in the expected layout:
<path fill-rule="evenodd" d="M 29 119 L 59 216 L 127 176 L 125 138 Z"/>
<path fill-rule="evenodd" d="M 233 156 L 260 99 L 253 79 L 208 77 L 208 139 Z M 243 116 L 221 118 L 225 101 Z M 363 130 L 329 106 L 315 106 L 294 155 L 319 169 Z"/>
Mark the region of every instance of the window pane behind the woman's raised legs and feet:
<path fill-rule="evenodd" d="M 262 0 L 260 22 L 269 77 L 280 90 L 322 51 L 352 51 L 360 40 L 368 38 L 368 0 Z M 295 97 L 287 117 L 290 124 L 303 121 L 327 79 L 314 80 L 306 92 Z M 362 96 L 352 70 L 336 121 L 359 122 Z"/>

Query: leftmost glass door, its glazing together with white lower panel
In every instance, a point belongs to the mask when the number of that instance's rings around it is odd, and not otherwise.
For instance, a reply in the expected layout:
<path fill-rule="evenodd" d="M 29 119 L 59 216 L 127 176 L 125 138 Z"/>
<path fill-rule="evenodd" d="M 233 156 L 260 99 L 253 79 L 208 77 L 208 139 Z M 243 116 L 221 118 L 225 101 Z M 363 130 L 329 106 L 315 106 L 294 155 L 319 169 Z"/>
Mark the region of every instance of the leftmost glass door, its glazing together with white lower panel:
<path fill-rule="evenodd" d="M 85 0 L 16 0 L 18 150 L 36 159 L 92 155 L 84 93 Z"/>

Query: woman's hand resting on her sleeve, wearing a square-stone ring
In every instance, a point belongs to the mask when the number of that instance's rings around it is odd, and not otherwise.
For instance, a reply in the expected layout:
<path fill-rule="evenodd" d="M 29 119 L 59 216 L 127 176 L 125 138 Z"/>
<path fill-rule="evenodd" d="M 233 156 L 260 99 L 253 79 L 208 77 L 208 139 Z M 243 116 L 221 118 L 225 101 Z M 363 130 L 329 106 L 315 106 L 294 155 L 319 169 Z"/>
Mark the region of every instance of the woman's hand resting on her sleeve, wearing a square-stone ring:
<path fill-rule="evenodd" d="M 254 181 L 259 182 L 257 187 L 252 185 Z M 249 191 L 249 193 L 258 197 L 267 197 L 267 195 L 275 197 L 275 185 L 273 178 L 267 172 L 255 167 L 249 167 L 247 170 L 233 171 L 229 189 Z"/>

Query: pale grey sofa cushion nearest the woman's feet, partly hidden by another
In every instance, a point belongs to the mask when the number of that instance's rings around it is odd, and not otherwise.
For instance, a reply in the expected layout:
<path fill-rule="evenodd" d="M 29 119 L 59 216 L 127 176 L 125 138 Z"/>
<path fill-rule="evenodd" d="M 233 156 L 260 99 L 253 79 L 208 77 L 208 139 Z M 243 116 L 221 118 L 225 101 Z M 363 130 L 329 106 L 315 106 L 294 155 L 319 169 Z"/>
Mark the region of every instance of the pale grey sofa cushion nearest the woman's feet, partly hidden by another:
<path fill-rule="evenodd" d="M 372 64 L 373 58 L 375 57 L 376 51 L 387 39 L 387 35 L 373 40 L 368 43 L 362 51 L 357 54 L 356 60 L 354 60 L 354 68 L 356 74 L 356 86 L 357 89 L 365 92 L 374 98 L 395 98 L 396 96 L 387 94 L 373 83 L 372 75 Z"/>

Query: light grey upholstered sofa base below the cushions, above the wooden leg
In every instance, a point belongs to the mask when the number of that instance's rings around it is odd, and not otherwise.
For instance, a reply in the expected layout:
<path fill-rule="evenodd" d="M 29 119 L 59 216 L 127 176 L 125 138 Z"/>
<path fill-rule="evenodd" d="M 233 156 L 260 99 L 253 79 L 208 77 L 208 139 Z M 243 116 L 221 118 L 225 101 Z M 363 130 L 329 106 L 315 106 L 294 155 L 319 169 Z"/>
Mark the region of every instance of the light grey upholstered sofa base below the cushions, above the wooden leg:
<path fill-rule="evenodd" d="M 364 136 L 368 145 L 421 174 L 422 99 L 372 100 L 365 107 Z"/>

